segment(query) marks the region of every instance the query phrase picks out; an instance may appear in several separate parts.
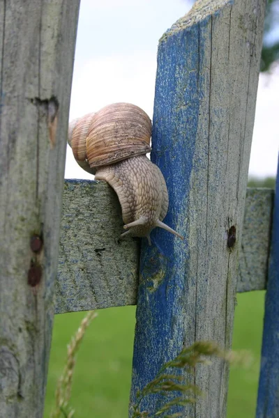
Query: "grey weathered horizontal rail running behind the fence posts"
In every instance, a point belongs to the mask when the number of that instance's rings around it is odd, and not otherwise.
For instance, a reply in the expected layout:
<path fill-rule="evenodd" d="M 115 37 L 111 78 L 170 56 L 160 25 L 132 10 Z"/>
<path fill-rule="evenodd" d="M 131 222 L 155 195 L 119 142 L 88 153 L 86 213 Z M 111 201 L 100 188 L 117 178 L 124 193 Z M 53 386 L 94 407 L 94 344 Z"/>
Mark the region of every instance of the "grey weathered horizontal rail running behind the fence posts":
<path fill-rule="evenodd" d="M 272 189 L 247 189 L 238 292 L 266 288 L 272 206 Z M 122 232 L 107 183 L 65 181 L 56 314 L 136 304 L 140 239 Z"/>

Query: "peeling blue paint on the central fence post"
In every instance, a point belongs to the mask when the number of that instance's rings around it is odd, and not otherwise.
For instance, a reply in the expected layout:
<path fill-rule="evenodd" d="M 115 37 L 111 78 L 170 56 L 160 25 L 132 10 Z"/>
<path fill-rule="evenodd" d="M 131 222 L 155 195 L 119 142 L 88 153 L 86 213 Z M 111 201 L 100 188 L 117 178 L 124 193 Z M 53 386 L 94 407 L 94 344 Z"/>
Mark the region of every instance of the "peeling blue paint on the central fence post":
<path fill-rule="evenodd" d="M 152 246 L 142 240 L 137 324 L 133 357 L 131 403 L 158 373 L 163 363 L 183 348 L 183 300 L 188 291 L 188 196 L 196 148 L 199 102 L 202 90 L 200 60 L 208 38 L 203 31 L 210 19 L 173 33 L 160 43 L 153 114 L 151 160 L 163 172 L 169 192 L 169 210 L 164 222 L 184 241 L 156 229 Z M 206 151 L 207 152 L 207 151 Z M 155 282 L 155 284 L 154 284 Z M 152 414 L 169 396 L 152 395 L 141 410 Z M 181 408 L 172 408 L 174 413 Z"/>

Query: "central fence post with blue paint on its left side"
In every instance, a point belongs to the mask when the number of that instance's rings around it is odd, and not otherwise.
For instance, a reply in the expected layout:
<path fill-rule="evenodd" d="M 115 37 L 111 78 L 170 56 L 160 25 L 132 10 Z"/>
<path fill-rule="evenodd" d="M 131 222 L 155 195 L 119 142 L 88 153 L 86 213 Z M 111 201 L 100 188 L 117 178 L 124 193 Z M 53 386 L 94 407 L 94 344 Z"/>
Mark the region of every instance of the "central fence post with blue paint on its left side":
<path fill-rule="evenodd" d="M 151 158 L 169 189 L 166 222 L 185 240 L 157 229 L 142 241 L 131 405 L 183 346 L 231 346 L 264 3 L 199 0 L 160 39 Z M 204 397 L 168 413 L 224 418 L 227 381 L 220 359 L 197 367 Z M 148 396 L 142 410 L 153 417 L 171 398 Z"/>

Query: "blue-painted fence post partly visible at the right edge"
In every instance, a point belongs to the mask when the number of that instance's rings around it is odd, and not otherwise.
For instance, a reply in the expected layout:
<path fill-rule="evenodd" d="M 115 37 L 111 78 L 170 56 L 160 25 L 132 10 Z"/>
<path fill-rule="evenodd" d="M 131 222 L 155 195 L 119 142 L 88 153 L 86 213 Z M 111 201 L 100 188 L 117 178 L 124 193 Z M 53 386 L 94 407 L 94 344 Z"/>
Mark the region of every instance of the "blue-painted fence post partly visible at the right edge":
<path fill-rule="evenodd" d="M 269 281 L 264 311 L 257 418 L 279 417 L 279 160 L 273 210 Z"/>

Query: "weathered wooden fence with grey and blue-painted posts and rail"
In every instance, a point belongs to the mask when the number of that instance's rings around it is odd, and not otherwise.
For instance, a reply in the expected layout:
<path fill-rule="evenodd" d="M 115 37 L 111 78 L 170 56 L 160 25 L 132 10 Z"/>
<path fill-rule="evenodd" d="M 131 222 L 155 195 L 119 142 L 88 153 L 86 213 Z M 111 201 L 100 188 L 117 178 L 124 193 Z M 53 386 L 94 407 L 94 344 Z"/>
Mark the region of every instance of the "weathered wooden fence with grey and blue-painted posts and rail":
<path fill-rule="evenodd" d="M 102 182 L 66 181 L 60 223 L 79 1 L 0 3 L 1 418 L 43 416 L 54 311 L 137 303 L 134 403 L 183 346 L 230 348 L 236 291 L 266 282 L 257 418 L 279 417 L 279 202 L 270 249 L 273 192 L 246 190 L 264 3 L 198 0 L 160 39 L 151 159 L 185 240 L 155 230 L 151 247 L 118 239 L 120 206 Z M 183 417 L 225 418 L 228 373 L 222 359 L 197 367 L 205 395 Z"/>

